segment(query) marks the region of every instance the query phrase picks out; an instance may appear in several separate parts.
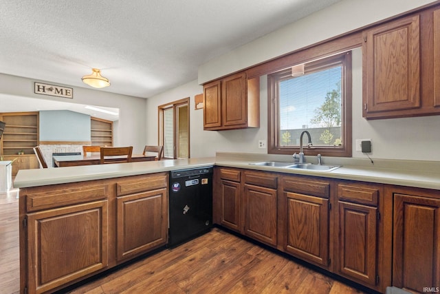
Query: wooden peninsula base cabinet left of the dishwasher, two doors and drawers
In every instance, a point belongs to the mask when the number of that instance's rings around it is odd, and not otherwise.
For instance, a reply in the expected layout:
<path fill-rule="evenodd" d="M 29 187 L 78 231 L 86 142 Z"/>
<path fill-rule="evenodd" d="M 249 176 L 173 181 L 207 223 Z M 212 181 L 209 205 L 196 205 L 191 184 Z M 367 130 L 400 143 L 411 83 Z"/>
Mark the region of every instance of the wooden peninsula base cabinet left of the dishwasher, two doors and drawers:
<path fill-rule="evenodd" d="M 168 240 L 168 173 L 19 193 L 21 293 L 58 291 Z"/>

